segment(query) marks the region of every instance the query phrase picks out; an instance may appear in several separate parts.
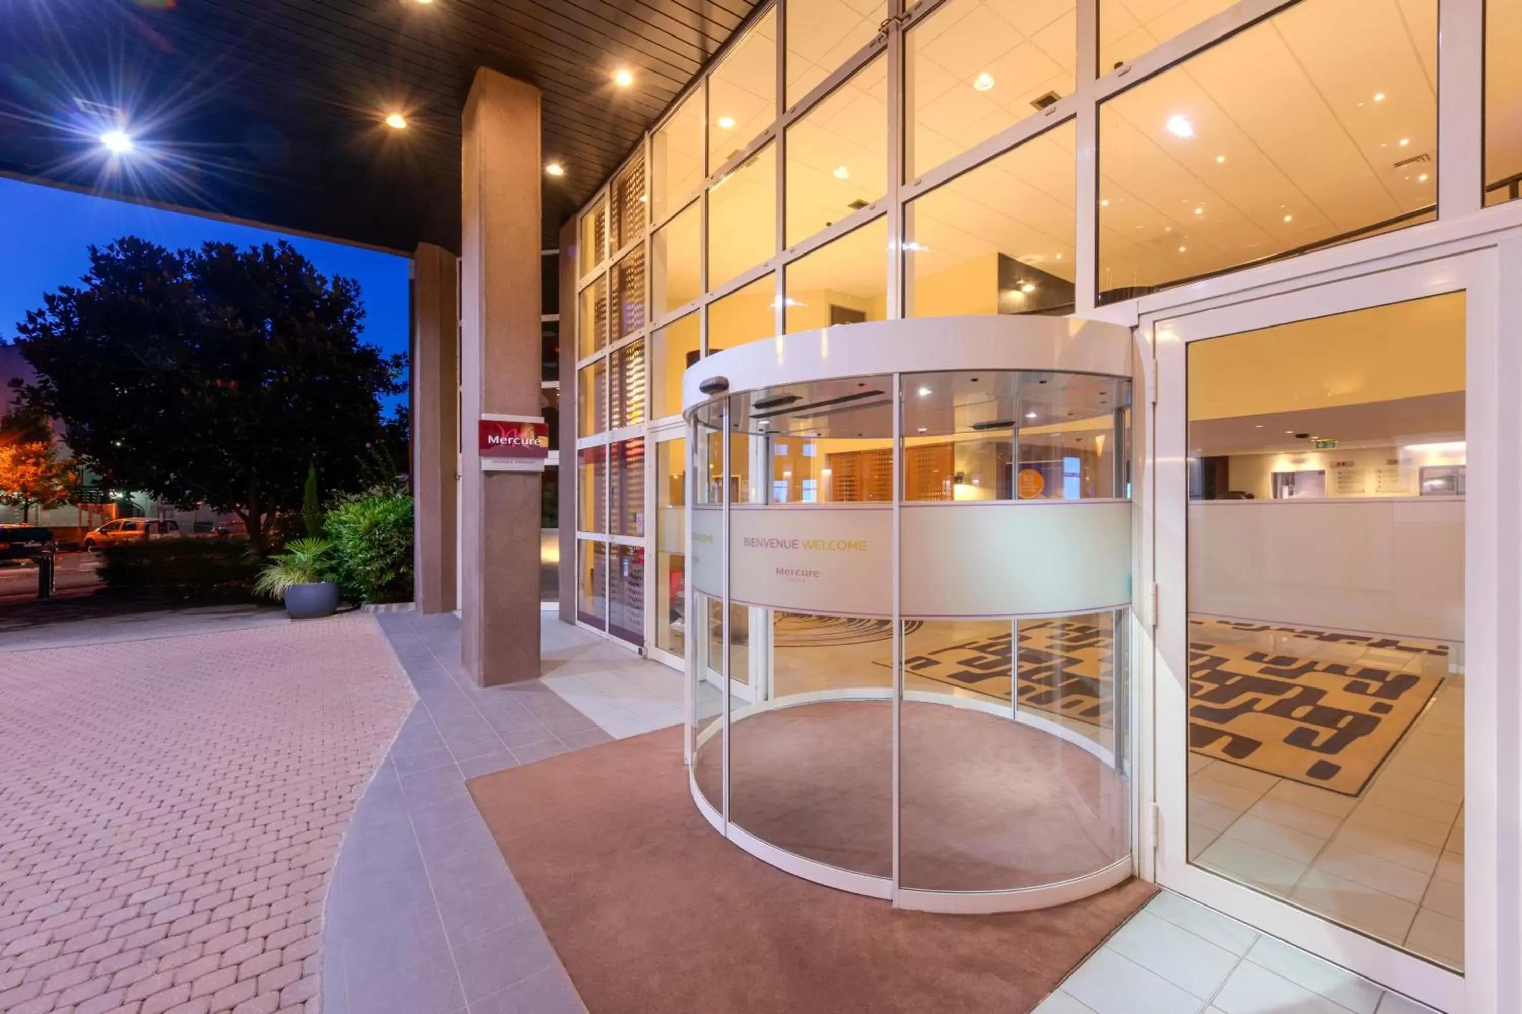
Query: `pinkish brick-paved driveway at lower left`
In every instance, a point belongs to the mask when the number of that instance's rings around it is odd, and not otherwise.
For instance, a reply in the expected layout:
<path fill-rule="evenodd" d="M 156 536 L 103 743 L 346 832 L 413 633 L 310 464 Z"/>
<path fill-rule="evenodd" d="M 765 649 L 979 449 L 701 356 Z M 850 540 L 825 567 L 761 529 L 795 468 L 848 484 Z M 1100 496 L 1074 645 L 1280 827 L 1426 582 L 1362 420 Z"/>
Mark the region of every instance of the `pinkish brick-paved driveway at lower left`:
<path fill-rule="evenodd" d="M 329 873 L 412 701 L 358 614 L 0 655 L 0 1012 L 315 1014 Z"/>

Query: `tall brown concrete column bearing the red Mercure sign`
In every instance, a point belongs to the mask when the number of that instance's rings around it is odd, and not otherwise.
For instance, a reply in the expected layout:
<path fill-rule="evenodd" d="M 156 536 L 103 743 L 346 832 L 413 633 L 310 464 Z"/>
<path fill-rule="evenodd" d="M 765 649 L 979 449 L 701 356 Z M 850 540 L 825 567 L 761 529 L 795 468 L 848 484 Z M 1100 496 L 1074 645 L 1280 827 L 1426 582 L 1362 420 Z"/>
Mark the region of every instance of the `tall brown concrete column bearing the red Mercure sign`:
<path fill-rule="evenodd" d="M 539 678 L 542 476 L 481 471 L 482 412 L 539 415 L 539 88 L 476 70 L 461 123 L 460 663 L 479 686 Z"/>

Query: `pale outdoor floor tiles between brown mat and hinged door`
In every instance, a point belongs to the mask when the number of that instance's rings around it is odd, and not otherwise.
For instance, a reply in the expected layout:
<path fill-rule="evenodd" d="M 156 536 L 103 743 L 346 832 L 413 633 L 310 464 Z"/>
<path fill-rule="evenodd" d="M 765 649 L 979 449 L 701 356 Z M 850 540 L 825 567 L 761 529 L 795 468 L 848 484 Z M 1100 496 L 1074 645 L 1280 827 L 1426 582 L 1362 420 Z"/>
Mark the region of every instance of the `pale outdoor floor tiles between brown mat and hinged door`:
<path fill-rule="evenodd" d="M 1035 1014 L 1429 1014 L 1426 1006 L 1163 891 Z"/>

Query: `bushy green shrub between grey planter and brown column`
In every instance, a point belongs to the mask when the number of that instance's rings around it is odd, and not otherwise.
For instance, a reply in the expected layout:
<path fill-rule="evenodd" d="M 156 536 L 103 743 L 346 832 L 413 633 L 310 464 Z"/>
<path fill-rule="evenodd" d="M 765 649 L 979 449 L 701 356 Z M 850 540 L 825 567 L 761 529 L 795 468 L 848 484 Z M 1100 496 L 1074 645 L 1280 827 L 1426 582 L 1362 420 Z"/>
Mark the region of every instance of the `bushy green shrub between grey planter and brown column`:
<path fill-rule="evenodd" d="M 345 597 L 412 600 L 412 497 L 362 497 L 327 512 L 332 561 Z"/>

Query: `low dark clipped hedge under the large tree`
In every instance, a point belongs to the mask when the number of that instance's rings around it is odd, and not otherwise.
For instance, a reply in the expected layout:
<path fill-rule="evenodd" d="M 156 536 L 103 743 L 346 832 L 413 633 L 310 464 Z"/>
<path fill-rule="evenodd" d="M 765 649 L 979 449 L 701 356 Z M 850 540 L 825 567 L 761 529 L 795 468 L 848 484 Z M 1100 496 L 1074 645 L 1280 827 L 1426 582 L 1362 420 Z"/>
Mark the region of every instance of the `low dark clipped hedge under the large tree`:
<path fill-rule="evenodd" d="M 125 594 L 247 599 L 259 572 L 240 538 L 111 543 L 100 555 L 100 581 Z"/>

